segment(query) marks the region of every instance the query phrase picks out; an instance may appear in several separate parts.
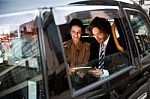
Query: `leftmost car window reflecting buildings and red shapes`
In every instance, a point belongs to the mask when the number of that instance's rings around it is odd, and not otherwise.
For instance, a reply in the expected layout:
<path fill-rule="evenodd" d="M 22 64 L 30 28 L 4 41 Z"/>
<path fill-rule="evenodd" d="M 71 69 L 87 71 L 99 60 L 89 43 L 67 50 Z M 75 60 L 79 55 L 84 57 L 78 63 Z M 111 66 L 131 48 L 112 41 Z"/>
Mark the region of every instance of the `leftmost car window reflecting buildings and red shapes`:
<path fill-rule="evenodd" d="M 44 98 L 38 18 L 36 11 L 0 15 L 1 98 Z"/>

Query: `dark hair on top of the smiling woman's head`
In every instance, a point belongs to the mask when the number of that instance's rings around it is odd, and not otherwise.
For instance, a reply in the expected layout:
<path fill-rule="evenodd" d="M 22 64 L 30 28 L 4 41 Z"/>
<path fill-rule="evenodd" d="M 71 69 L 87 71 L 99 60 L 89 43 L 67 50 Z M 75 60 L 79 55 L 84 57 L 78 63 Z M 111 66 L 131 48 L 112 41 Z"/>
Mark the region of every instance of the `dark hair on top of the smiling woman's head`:
<path fill-rule="evenodd" d="M 76 19 L 76 18 L 72 19 L 70 21 L 70 24 L 69 24 L 69 29 L 71 30 L 71 27 L 74 26 L 74 25 L 77 25 L 77 26 L 81 27 L 81 31 L 83 31 L 83 23 L 82 23 L 81 20 Z"/>

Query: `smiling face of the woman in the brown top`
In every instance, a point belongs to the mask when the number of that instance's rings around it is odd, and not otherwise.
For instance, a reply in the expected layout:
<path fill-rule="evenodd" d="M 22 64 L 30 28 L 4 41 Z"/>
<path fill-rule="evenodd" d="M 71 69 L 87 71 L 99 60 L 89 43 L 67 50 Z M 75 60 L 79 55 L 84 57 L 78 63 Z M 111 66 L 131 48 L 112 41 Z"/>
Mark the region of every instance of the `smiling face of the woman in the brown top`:
<path fill-rule="evenodd" d="M 78 43 L 78 41 L 80 40 L 81 37 L 81 27 L 77 26 L 77 25 L 73 25 L 71 27 L 71 37 L 74 43 Z"/>

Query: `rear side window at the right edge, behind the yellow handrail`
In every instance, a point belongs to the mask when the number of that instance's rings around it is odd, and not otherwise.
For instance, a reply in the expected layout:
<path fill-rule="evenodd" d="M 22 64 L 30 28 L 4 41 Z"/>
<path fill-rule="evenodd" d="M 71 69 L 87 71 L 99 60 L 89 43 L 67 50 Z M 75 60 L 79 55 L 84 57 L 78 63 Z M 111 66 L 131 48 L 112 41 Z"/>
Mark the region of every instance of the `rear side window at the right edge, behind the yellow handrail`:
<path fill-rule="evenodd" d="M 145 16 L 137 11 L 128 11 L 128 17 L 135 35 L 135 40 L 141 57 L 150 51 L 150 28 Z"/>

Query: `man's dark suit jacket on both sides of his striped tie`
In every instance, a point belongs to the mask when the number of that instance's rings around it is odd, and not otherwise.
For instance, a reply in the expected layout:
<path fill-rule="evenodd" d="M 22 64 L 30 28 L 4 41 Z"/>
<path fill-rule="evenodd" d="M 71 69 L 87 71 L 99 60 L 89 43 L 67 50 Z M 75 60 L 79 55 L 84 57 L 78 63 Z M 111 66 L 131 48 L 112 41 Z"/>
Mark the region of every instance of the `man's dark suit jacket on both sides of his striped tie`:
<path fill-rule="evenodd" d="M 91 42 L 90 46 L 90 61 L 95 60 L 95 62 L 92 62 L 93 67 L 98 67 L 98 59 L 99 59 L 99 49 L 100 49 L 100 44 L 94 40 Z M 114 42 L 113 37 L 110 35 L 109 41 L 107 43 L 106 49 L 105 49 L 105 57 L 114 53 L 119 52 L 119 50 L 116 47 L 116 44 Z M 107 68 L 107 67 L 105 67 Z"/>

